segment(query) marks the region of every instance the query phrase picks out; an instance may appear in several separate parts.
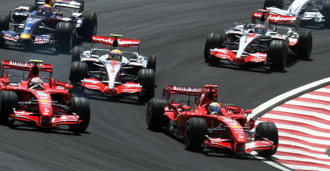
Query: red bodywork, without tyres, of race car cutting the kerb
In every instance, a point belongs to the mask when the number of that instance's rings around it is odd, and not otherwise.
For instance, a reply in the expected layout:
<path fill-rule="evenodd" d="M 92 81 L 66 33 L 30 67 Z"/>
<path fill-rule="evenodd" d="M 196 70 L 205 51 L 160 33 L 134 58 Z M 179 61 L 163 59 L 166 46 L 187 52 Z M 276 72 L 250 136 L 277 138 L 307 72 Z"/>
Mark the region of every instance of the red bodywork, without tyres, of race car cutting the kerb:
<path fill-rule="evenodd" d="M 230 149 L 235 153 L 247 154 L 253 150 L 270 150 L 274 149 L 272 141 L 262 139 L 260 141 L 253 140 L 253 137 L 247 137 L 244 130 L 252 129 L 253 126 L 247 125 L 246 116 L 251 110 L 243 110 L 235 106 L 222 106 L 221 114 L 210 115 L 207 112 L 208 105 L 214 102 L 217 97 L 217 86 L 205 85 L 205 87 L 186 87 L 186 86 L 166 86 L 163 90 L 163 98 L 169 98 L 170 94 L 186 94 L 199 95 L 196 99 L 195 106 L 191 111 L 183 110 L 180 103 L 172 101 L 168 105 L 164 105 L 164 113 L 167 117 L 176 121 L 179 134 L 184 134 L 186 121 L 191 117 L 204 118 L 209 128 L 209 135 L 203 142 L 203 146 L 209 149 Z M 250 125 L 254 125 L 251 119 Z M 247 127 L 249 126 L 249 127 Z M 221 130 L 215 130 L 221 129 Z M 214 129 L 214 130 L 213 130 Z M 213 131 L 210 131 L 213 130 Z M 251 135 L 248 135 L 251 136 Z"/>

